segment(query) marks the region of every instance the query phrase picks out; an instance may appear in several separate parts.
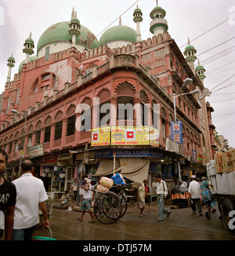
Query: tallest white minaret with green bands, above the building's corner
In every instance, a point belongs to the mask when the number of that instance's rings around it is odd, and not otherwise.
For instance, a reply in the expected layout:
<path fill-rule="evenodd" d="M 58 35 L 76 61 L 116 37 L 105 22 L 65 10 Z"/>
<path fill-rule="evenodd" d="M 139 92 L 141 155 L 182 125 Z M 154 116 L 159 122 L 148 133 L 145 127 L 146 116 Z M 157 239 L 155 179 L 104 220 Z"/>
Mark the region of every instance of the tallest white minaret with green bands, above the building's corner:
<path fill-rule="evenodd" d="M 163 35 L 165 31 L 168 31 L 168 22 L 164 19 L 166 14 L 165 10 L 158 6 L 158 1 L 156 2 L 157 6 L 154 7 L 150 13 L 150 18 L 152 19 L 150 23 L 150 31 L 157 36 L 159 34 Z"/>

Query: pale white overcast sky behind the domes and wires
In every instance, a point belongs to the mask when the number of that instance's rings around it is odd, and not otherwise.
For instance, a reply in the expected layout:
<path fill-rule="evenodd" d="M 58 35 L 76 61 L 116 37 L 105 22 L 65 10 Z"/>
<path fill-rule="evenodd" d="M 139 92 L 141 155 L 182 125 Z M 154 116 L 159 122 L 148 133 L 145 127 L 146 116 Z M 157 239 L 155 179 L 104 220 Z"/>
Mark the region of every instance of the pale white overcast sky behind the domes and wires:
<path fill-rule="evenodd" d="M 4 90 L 8 72 L 7 59 L 12 53 L 16 59 L 12 71 L 13 79 L 13 75 L 18 72 L 20 62 L 25 59 L 22 49 L 30 32 L 36 53 L 38 39 L 42 33 L 52 24 L 69 21 L 73 7 L 78 12 L 81 24 L 88 27 L 99 40 L 101 32 L 107 26 L 118 24 L 118 17 L 122 13 L 125 13 L 121 16 L 122 24 L 136 29 L 132 14 L 138 4 L 143 12 L 143 22 L 140 24 L 142 39 L 153 36 L 149 28 L 150 12 L 156 6 L 155 0 L 0 1 L 0 93 Z M 206 97 L 206 100 L 215 110 L 212 113 L 212 123 L 217 132 L 228 139 L 230 146 L 235 148 L 235 1 L 159 0 L 158 2 L 158 5 L 166 11 L 168 32 L 181 51 L 184 51 L 188 37 L 191 45 L 197 49 L 197 56 L 206 69 L 207 78 L 204 79 L 204 86 L 209 90 L 215 86 L 218 86 L 216 89 L 221 89 L 217 93 L 212 93 L 211 97 Z M 133 5 L 134 3 L 136 4 Z M 132 8 L 125 12 L 130 6 Z M 215 27 L 217 25 L 218 27 Z M 213 27 L 215 28 L 211 30 Z M 193 40 L 194 38 L 196 39 Z M 224 86 L 226 87 L 222 89 Z"/>

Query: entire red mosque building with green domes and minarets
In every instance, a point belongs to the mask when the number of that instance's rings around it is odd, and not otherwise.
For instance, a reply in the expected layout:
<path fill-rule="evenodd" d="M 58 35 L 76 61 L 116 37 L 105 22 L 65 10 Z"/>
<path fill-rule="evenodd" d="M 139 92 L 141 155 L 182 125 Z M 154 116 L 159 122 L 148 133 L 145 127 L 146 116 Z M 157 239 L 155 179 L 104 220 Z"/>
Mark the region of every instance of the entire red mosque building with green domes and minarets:
<path fill-rule="evenodd" d="M 121 171 L 130 181 L 151 180 L 156 172 L 170 180 L 205 172 L 213 148 L 205 69 L 194 68 L 197 50 L 190 39 L 181 53 L 165 17 L 157 3 L 150 13 L 153 37 L 146 40 L 139 6 L 136 30 L 120 17 L 99 41 L 74 9 L 71 20 L 45 29 L 37 48 L 30 33 L 13 80 L 15 59 L 7 60 L 0 95 L 0 147 L 9 155 L 12 177 L 25 158 L 55 193 L 68 189 L 82 166 L 91 175 Z M 182 124 L 179 144 L 172 139 L 173 121 Z"/>

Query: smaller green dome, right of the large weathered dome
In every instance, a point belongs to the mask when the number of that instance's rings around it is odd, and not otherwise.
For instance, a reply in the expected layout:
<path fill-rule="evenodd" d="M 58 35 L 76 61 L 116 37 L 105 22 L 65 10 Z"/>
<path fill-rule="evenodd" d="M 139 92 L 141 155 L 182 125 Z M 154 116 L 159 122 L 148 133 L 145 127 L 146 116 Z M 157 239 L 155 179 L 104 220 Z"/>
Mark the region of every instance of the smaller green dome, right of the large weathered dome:
<path fill-rule="evenodd" d="M 112 41 L 129 41 L 136 42 L 136 31 L 132 27 L 118 25 L 110 27 L 101 35 L 99 39 L 99 46 L 105 45 Z"/>

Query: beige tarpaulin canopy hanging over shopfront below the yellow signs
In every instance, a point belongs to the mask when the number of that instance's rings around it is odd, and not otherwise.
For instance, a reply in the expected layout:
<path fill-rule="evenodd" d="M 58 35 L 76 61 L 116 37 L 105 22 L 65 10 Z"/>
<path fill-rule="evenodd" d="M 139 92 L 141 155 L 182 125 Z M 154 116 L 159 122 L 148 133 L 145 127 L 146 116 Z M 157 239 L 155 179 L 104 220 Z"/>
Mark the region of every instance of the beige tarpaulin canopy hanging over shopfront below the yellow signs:
<path fill-rule="evenodd" d="M 150 159 L 117 158 L 115 173 L 120 172 L 123 177 L 133 182 L 143 182 L 148 176 Z M 121 171 L 120 171 L 121 170 Z M 114 159 L 100 159 L 96 176 L 114 174 Z"/>

